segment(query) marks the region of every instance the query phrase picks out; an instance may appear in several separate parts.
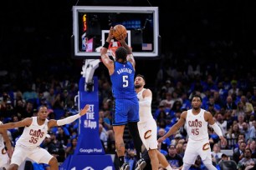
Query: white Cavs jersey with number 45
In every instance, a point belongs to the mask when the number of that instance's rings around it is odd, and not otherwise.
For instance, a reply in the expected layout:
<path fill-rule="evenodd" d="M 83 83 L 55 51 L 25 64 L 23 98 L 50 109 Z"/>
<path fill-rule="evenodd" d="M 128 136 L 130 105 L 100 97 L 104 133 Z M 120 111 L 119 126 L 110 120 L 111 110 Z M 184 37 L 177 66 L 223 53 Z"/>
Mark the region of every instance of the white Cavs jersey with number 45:
<path fill-rule="evenodd" d="M 201 108 L 201 111 L 194 115 L 192 109 L 187 110 L 186 117 L 186 126 L 187 126 L 187 135 L 188 138 L 199 141 L 202 139 L 209 138 L 208 135 L 208 122 L 204 120 L 204 109 Z"/>

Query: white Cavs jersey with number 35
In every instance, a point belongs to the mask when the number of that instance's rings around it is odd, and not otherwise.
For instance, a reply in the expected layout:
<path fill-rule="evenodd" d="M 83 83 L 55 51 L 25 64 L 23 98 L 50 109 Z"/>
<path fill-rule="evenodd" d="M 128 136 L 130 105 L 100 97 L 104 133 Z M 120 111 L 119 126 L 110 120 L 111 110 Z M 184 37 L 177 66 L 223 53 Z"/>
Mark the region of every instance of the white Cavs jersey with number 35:
<path fill-rule="evenodd" d="M 36 148 L 43 141 L 48 133 L 48 119 L 45 119 L 43 125 L 39 126 L 37 117 L 32 117 L 32 123 L 29 127 L 25 127 L 23 134 L 18 138 L 16 145 L 25 148 Z"/>

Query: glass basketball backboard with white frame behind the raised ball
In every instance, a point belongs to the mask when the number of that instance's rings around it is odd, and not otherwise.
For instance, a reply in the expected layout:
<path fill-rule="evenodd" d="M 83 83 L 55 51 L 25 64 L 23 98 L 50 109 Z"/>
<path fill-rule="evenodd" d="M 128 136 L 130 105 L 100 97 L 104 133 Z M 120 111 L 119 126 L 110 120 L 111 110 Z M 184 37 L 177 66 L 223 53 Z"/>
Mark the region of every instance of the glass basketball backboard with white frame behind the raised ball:
<path fill-rule="evenodd" d="M 160 56 L 158 7 L 74 6 L 74 58 L 100 58 L 111 26 L 122 24 L 127 29 L 127 44 L 134 57 L 157 59 Z M 116 42 L 115 38 L 112 40 Z"/>

